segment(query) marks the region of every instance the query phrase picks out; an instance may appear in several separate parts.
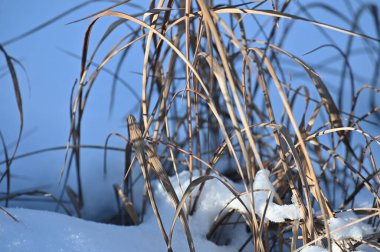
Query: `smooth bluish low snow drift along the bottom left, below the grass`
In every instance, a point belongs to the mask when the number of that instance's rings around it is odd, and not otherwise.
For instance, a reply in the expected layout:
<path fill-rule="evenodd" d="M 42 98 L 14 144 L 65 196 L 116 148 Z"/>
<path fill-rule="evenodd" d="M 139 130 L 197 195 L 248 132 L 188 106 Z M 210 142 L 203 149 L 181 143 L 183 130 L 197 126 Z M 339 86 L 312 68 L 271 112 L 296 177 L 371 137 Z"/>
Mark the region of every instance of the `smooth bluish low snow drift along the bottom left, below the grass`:
<path fill-rule="evenodd" d="M 165 251 L 156 221 L 148 218 L 139 226 L 116 226 L 85 221 L 63 214 L 31 210 L 8 209 L 19 222 L 0 215 L 0 251 Z M 179 237 L 178 237 L 179 236 Z M 188 251 L 182 234 L 176 234 L 175 251 Z M 197 233 L 193 234 L 200 251 L 231 251 Z"/>

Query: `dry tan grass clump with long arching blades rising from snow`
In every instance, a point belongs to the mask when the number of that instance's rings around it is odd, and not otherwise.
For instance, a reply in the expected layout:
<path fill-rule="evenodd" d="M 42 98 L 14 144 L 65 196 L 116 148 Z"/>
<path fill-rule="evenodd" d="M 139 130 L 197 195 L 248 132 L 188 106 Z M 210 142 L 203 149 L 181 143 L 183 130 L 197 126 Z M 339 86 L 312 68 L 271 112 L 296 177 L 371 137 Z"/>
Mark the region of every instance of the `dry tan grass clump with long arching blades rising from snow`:
<path fill-rule="evenodd" d="M 84 2 L 6 41 L 4 45 L 23 39 L 89 3 Z M 66 176 L 66 184 L 71 167 L 75 167 L 78 190 L 66 186 L 66 193 L 76 214 L 80 216 L 85 204 L 80 176 L 81 149 L 101 148 L 105 151 L 105 160 L 107 151 L 125 153 L 124 184 L 121 187 L 114 186 L 117 200 L 121 203 L 121 224 L 139 224 L 144 221 L 149 198 L 168 250 L 172 250 L 172 232 L 178 217 L 184 227 L 189 249 L 196 249 L 188 216 L 197 211 L 205 183 L 215 178 L 237 198 L 239 193 L 225 178 L 243 183 L 245 192 L 250 196 L 250 204 L 245 207 L 250 211 L 245 215 L 221 212 L 215 216 L 207 237 L 223 243 L 215 237 L 223 239 L 223 227 L 231 224 L 231 216 L 236 214 L 239 217 L 234 223 L 243 223 L 241 225 L 246 225 L 249 230 L 241 250 L 248 243 L 252 243 L 255 251 L 300 250 L 314 243 L 329 249 L 332 243 L 343 246 L 331 239 L 330 232 L 334 230 L 329 230 L 327 224 L 327 219 L 334 217 L 336 211 L 350 209 L 363 216 L 361 221 L 378 227 L 380 178 L 374 153 L 379 150 L 379 136 L 372 136 L 366 128 L 379 125 L 379 115 L 376 114 L 379 110 L 376 104 L 379 71 L 368 78 L 369 82 L 363 82 L 348 60 L 357 49 L 353 46 L 353 40 L 359 39 L 363 44 L 359 53 L 377 55 L 369 58 L 374 68 L 379 69 L 380 36 L 377 34 L 375 38 L 365 35 L 366 29 L 360 25 L 360 17 L 364 13 L 379 25 L 378 7 L 375 4 L 363 4 L 356 10 L 357 18 L 332 5 L 302 5 L 297 1 L 228 1 L 223 4 L 203 0 L 152 1 L 139 8 L 143 11 L 130 13 L 129 6 L 136 7 L 133 4 L 132 1 L 121 1 L 76 21 L 89 22 L 89 26 L 80 56 L 81 75 L 73 87 L 71 130 L 66 146 L 16 155 L 23 128 L 22 99 L 13 65 L 16 61 L 3 46 L 0 47 L 12 76 L 20 114 L 20 134 L 10 156 L 1 135 L 5 154 L 1 164 L 5 166 L 5 171 L 1 174 L 0 182 L 6 179 L 7 192 L 2 198 L 5 206 L 9 200 L 22 195 L 12 193 L 10 189 L 14 159 L 66 149 L 62 175 Z M 349 1 L 345 4 L 348 9 L 355 9 Z M 126 11 L 121 11 L 122 7 L 126 7 Z M 289 14 L 288 10 L 294 9 L 297 14 Z M 315 21 L 310 12 L 312 9 L 334 14 L 350 29 Z M 96 32 L 95 24 L 102 22 L 105 17 L 111 17 L 114 21 L 102 38 L 94 42 L 91 35 Z M 281 29 L 285 32 L 278 35 L 281 20 L 285 20 L 281 22 Z M 318 27 L 320 33 L 330 41 L 310 53 L 326 48 L 338 52 L 335 59 L 342 66 L 332 69 L 340 77 L 337 91 L 331 92 L 320 75 L 303 59 L 282 49 L 286 44 L 287 31 L 297 22 Z M 102 49 L 104 41 L 123 26 L 128 30 L 125 36 L 114 41 L 112 48 Z M 347 47 L 340 48 L 327 30 L 347 34 Z M 92 51 L 89 50 L 90 43 L 96 43 Z M 124 81 L 127 77 L 122 73 L 122 65 L 129 60 L 131 50 L 141 48 L 141 83 L 128 86 Z M 95 62 L 102 53 L 104 58 L 100 63 Z M 118 60 L 115 70 L 106 68 L 112 59 Z M 317 66 L 323 66 L 323 62 Z M 114 78 L 111 110 L 119 83 L 127 85 L 131 95 L 139 96 L 136 90 L 141 90 L 140 113 L 135 114 L 139 116 L 140 123 L 133 116 L 128 116 L 128 137 L 113 133 L 107 138 L 105 146 L 87 146 L 81 143 L 82 118 L 91 90 L 102 72 L 110 73 Z M 294 79 L 287 77 L 289 72 L 294 75 Z M 345 104 L 343 99 L 347 85 L 350 85 L 351 92 L 349 104 Z M 359 85 L 361 87 L 356 90 L 355 87 Z M 369 103 L 365 104 L 369 112 L 357 115 L 356 108 L 363 103 L 360 95 L 364 91 L 370 92 Z M 345 110 L 347 105 L 350 107 L 348 111 Z M 125 140 L 126 148 L 109 146 L 108 141 L 113 136 Z M 145 193 L 142 199 L 133 198 L 135 181 L 131 174 L 135 166 L 141 168 L 135 169 L 144 180 Z M 191 183 L 183 198 L 178 199 L 168 176 L 184 169 L 190 172 Z M 277 188 L 277 203 L 287 202 L 292 195 L 296 197 L 302 213 L 301 221 L 265 223 L 256 216 L 252 184 L 255 173 L 260 169 L 271 171 Z M 195 171 L 201 174 L 197 179 L 192 178 Z M 176 209 L 169 233 L 162 224 L 160 209 L 154 199 L 152 178 L 163 184 Z M 352 208 L 363 191 L 370 195 L 372 207 Z M 51 197 L 68 214 L 73 214 L 62 201 L 64 192 L 58 197 L 41 191 L 29 194 Z M 143 202 L 140 212 L 134 207 L 137 200 Z M 3 208 L 1 210 L 6 212 Z M 320 214 L 315 215 L 316 211 Z M 221 235 L 216 235 L 217 232 Z M 348 244 L 352 249 L 360 244 L 378 248 L 378 236 L 375 234 L 362 240 L 351 240 Z"/>

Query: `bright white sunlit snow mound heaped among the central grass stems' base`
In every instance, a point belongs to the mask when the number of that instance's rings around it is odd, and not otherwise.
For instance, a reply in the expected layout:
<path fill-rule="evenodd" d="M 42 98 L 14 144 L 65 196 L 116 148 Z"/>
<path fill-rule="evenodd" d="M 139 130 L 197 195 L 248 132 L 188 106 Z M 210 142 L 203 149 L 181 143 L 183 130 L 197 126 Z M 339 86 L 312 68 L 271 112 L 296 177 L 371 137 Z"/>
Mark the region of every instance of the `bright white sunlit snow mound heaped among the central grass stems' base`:
<path fill-rule="evenodd" d="M 273 202 L 275 190 L 271 181 L 269 180 L 269 174 L 270 173 L 268 170 L 260 170 L 257 172 L 254 179 L 253 198 L 256 214 L 260 218 L 263 218 L 265 213 L 266 220 L 276 223 L 284 222 L 286 219 L 301 219 L 301 213 L 295 200 L 293 200 L 293 204 L 290 205 L 278 205 Z M 183 195 L 182 190 L 184 190 L 189 185 L 189 172 L 181 172 L 178 175 L 178 178 L 179 181 L 175 176 L 171 177 L 170 180 L 174 186 L 174 190 L 176 191 L 178 198 L 181 199 Z M 197 175 L 193 176 L 193 179 L 196 178 L 198 178 Z M 241 192 L 244 191 L 244 188 L 241 184 L 236 184 L 232 181 L 228 181 L 228 183 L 232 185 L 235 189 L 238 189 Z M 157 184 L 156 187 L 158 189 L 159 195 L 165 195 L 165 189 L 163 189 L 163 187 L 160 184 Z M 246 213 L 247 209 L 250 209 L 250 200 L 247 194 L 240 196 L 240 199 L 245 206 L 238 199 L 234 198 L 235 196 L 233 195 L 233 193 L 228 188 L 226 188 L 226 186 L 223 185 L 220 181 L 216 179 L 209 180 L 206 182 L 205 187 L 202 191 L 195 216 L 202 216 L 199 218 L 202 219 L 203 223 L 207 223 L 207 225 L 203 226 L 208 228 L 211 225 L 212 220 L 216 217 L 216 215 L 229 202 L 231 203 L 226 207 L 226 210 L 235 209 L 241 213 Z M 166 201 L 169 203 L 170 199 L 167 198 Z M 265 212 L 266 206 L 267 209 Z"/>

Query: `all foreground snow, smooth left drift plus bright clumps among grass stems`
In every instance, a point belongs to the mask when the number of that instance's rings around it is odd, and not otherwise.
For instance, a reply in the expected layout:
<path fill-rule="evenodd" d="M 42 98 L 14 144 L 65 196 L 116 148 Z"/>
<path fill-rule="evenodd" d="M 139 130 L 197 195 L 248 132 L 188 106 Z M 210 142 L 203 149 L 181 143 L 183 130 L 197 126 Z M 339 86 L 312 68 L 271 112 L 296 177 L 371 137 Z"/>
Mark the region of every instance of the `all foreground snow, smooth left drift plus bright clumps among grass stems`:
<path fill-rule="evenodd" d="M 194 176 L 195 179 L 197 176 Z M 189 185 L 189 173 L 181 172 L 170 178 L 179 198 L 183 190 Z M 241 184 L 231 181 L 229 183 L 238 191 L 244 192 Z M 153 183 L 155 199 L 166 231 L 170 230 L 173 221 L 174 209 L 165 189 L 157 181 Z M 259 171 L 253 184 L 253 198 L 255 211 L 259 217 L 273 222 L 282 222 L 285 219 L 301 219 L 300 211 L 294 202 L 290 205 L 278 205 L 273 202 L 275 194 L 269 179 L 269 171 Z M 101 197 L 100 197 L 101 198 Z M 241 196 L 249 209 L 249 198 Z M 228 204 L 231 202 L 230 204 Z M 228 206 L 226 207 L 226 205 Z M 235 209 L 245 212 L 240 201 L 217 179 L 206 182 L 194 215 L 190 216 L 189 223 L 195 248 L 197 251 L 237 251 L 249 237 L 244 225 L 229 225 L 225 227 L 225 239 L 229 241 L 226 246 L 218 246 L 206 239 L 206 234 L 221 210 Z M 149 208 L 144 222 L 138 226 L 116 226 L 101 224 L 59 213 L 38 211 L 22 208 L 8 208 L 19 222 L 13 221 L 9 216 L 0 213 L 0 251 L 166 251 L 166 244 L 161 236 L 156 218 Z M 329 220 L 330 229 L 343 227 L 358 217 L 352 212 L 337 214 L 336 218 Z M 233 227 L 232 227 L 233 226 Z M 348 238 L 360 239 L 372 233 L 371 226 L 357 223 L 333 233 L 335 240 Z M 361 251 L 371 251 L 366 246 L 359 247 Z M 188 251 L 187 239 L 182 225 L 177 223 L 173 235 L 174 251 Z M 246 251 L 252 251 L 252 245 Z M 326 251 L 322 247 L 308 246 L 303 252 Z M 340 251 L 333 244 L 333 251 Z"/>

